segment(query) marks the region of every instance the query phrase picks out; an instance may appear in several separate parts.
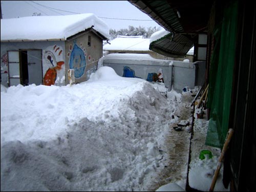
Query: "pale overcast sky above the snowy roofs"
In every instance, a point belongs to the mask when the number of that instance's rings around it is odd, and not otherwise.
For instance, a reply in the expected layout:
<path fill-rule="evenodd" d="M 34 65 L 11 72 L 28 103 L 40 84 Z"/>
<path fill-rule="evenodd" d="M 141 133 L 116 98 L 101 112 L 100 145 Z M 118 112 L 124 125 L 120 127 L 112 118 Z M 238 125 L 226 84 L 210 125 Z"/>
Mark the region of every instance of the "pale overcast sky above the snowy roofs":
<path fill-rule="evenodd" d="M 94 13 L 110 29 L 160 26 L 128 1 L 1 1 L 3 18 Z M 102 18 L 106 17 L 106 18 Z M 131 19 L 131 20 L 128 20 Z"/>

